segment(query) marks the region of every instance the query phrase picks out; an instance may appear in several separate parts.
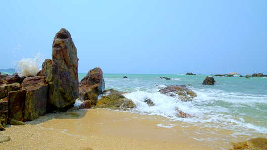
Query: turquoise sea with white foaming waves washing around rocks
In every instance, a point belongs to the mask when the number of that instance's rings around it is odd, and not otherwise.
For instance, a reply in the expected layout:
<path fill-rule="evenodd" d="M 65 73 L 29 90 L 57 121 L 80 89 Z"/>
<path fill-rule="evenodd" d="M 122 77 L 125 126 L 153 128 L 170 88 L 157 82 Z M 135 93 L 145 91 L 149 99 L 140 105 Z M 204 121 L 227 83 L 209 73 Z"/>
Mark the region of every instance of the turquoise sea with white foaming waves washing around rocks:
<path fill-rule="evenodd" d="M 79 80 L 85 75 L 79 74 Z M 172 80 L 159 79 L 161 76 Z M 137 105 L 133 112 L 231 129 L 237 135 L 262 133 L 267 137 L 267 78 L 214 77 L 215 85 L 202 85 L 206 76 L 210 75 L 104 74 L 104 80 L 105 89 L 130 92 L 125 96 Z M 181 102 L 158 92 L 168 85 L 186 85 L 197 97 L 192 102 Z M 145 98 L 155 106 L 149 107 L 143 102 Z M 192 117 L 176 117 L 176 108 Z"/>

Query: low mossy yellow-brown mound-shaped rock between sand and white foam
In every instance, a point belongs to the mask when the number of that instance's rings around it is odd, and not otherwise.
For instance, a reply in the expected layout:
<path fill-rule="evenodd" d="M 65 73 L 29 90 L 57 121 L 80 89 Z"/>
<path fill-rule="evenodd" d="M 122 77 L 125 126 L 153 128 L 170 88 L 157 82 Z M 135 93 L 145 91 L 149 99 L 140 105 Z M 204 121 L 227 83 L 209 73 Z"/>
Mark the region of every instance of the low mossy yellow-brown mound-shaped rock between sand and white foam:
<path fill-rule="evenodd" d="M 132 100 L 127 99 L 120 92 L 109 89 L 104 91 L 103 96 L 98 100 L 95 108 L 126 109 L 134 108 Z"/>

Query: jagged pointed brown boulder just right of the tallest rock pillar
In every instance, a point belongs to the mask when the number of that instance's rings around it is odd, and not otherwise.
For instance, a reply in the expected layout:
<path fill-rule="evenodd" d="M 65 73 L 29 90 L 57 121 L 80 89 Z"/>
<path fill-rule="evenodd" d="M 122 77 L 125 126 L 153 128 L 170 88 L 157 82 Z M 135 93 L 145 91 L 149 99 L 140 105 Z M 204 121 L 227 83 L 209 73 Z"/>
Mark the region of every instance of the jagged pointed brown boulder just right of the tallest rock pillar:
<path fill-rule="evenodd" d="M 105 90 L 105 81 L 101 68 L 91 69 L 79 83 L 79 99 L 90 100 L 96 105 L 98 95 Z"/>

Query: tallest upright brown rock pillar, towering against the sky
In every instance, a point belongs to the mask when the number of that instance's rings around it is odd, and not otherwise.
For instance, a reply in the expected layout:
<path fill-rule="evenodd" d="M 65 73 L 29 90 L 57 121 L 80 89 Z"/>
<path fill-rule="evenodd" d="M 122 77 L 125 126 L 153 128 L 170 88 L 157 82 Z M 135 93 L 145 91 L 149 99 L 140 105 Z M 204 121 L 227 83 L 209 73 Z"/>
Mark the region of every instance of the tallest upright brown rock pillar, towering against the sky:
<path fill-rule="evenodd" d="M 62 28 L 53 41 L 52 60 L 46 59 L 38 73 L 49 84 L 48 112 L 65 111 L 79 96 L 77 50 L 70 33 Z"/>

